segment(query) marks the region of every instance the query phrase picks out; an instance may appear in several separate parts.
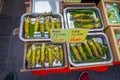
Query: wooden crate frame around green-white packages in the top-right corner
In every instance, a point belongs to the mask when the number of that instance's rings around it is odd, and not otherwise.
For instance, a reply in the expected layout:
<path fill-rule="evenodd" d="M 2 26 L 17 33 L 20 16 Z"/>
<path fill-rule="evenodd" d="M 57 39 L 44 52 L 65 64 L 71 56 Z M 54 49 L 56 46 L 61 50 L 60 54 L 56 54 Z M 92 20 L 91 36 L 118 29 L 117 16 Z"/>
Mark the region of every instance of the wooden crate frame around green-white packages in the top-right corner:
<path fill-rule="evenodd" d="M 104 22 L 104 25 L 105 25 L 105 28 L 108 28 L 108 27 L 119 27 L 120 24 L 119 23 L 110 23 L 109 22 L 109 18 L 108 18 L 108 15 L 107 15 L 107 10 L 106 10 L 106 7 L 105 7 L 105 4 L 106 3 L 109 3 L 109 4 L 117 4 L 117 7 L 119 9 L 120 7 L 120 1 L 119 0 L 101 0 L 98 4 L 97 4 L 97 7 L 100 9 L 101 11 L 101 15 L 102 15 L 102 18 L 103 18 L 103 22 Z M 109 6 L 108 6 L 109 7 Z M 110 8 L 112 9 L 112 8 Z M 116 9 L 116 7 L 114 7 L 114 9 Z M 114 10 L 112 10 L 111 12 L 114 12 Z M 117 10 L 115 11 L 115 15 L 117 15 Z M 111 14 L 111 13 L 110 13 Z M 119 11 L 118 11 L 118 14 L 119 14 Z M 111 16 L 110 16 L 111 17 Z M 115 18 L 113 16 L 113 18 Z M 110 19 L 113 21 L 113 19 Z"/>

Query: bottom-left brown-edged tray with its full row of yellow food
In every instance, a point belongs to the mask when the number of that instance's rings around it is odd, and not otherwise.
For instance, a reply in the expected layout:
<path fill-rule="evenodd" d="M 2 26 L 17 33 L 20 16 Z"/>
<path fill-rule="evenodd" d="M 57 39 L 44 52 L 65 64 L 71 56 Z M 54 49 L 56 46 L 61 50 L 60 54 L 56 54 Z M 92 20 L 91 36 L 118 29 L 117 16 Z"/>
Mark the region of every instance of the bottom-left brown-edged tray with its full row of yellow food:
<path fill-rule="evenodd" d="M 26 42 L 22 71 L 64 69 L 66 54 L 66 43 Z"/>

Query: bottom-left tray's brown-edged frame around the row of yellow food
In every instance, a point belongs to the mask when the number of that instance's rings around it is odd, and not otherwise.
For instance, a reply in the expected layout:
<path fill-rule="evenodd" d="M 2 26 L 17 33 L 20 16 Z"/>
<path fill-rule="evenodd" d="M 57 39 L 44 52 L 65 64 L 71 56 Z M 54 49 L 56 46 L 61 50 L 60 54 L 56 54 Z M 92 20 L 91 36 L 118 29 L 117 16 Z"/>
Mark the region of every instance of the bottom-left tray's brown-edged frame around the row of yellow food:
<path fill-rule="evenodd" d="M 61 46 L 62 50 L 63 50 L 63 62 L 60 63 L 60 60 L 58 61 L 58 63 L 56 63 L 56 58 L 53 61 L 53 66 L 50 67 L 49 66 L 49 62 L 44 62 L 44 67 L 41 66 L 41 64 L 35 64 L 34 67 L 28 68 L 28 62 L 26 60 L 26 55 L 27 55 L 27 51 L 30 48 L 30 46 L 35 45 L 37 46 L 42 46 L 42 44 L 45 43 L 45 45 L 49 46 L 49 45 L 57 45 L 57 47 L 59 48 L 59 46 Z M 26 71 L 32 71 L 32 70 L 49 70 L 49 69 L 60 69 L 60 68 L 64 68 L 67 66 L 67 58 L 66 58 L 66 44 L 65 43 L 52 43 L 52 42 L 28 42 L 25 44 L 24 46 L 24 60 L 23 60 L 23 70 Z M 53 49 L 53 48 L 51 48 Z M 55 48 L 54 48 L 55 49 Z M 54 50 L 54 57 L 56 56 L 56 52 Z"/>

